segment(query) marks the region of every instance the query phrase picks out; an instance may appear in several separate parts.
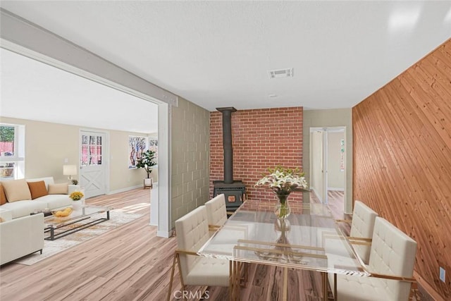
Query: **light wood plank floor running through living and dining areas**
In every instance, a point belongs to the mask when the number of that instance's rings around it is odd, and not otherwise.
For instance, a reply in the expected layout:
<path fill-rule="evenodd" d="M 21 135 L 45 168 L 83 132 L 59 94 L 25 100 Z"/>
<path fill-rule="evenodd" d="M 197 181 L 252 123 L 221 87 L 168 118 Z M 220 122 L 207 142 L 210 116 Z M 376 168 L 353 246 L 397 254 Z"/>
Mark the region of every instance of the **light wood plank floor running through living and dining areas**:
<path fill-rule="evenodd" d="M 150 190 L 143 189 L 87 199 L 144 216 L 32 266 L 1 266 L 0 300 L 166 300 L 176 240 L 156 237 L 149 202 Z M 241 300 L 281 300 L 282 272 L 249 265 Z M 290 270 L 288 277 L 288 300 L 321 300 L 319 273 Z M 180 287 L 175 274 L 171 300 L 178 300 L 173 293 Z M 208 300 L 228 300 L 228 288 L 207 290 Z"/>

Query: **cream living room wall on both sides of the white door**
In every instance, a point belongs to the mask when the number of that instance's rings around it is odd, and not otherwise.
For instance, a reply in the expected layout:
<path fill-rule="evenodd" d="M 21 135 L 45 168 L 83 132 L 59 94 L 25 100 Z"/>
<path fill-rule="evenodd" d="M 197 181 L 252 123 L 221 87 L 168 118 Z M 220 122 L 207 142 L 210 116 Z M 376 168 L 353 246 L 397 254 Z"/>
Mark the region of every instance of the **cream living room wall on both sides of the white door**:
<path fill-rule="evenodd" d="M 0 122 L 25 125 L 25 178 L 53 176 L 56 183 L 62 183 L 67 181 L 67 176 L 63 176 L 63 164 L 79 166 L 79 126 L 8 117 L 1 117 Z M 144 134 L 102 131 L 109 133 L 110 190 L 142 185 L 142 179 L 146 177 L 144 170 L 128 169 L 128 136 Z M 67 163 L 65 159 L 68 159 Z"/>

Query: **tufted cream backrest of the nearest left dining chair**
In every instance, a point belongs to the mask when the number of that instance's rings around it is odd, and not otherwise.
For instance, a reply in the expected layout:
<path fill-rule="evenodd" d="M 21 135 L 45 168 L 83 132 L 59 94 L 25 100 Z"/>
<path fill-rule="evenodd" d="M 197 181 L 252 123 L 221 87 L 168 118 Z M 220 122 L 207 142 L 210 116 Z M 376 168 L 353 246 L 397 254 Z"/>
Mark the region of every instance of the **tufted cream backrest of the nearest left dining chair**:
<path fill-rule="evenodd" d="M 197 252 L 209 240 L 209 223 L 206 208 L 200 206 L 175 221 L 178 249 Z M 183 279 L 200 257 L 180 254 L 180 268 Z"/>

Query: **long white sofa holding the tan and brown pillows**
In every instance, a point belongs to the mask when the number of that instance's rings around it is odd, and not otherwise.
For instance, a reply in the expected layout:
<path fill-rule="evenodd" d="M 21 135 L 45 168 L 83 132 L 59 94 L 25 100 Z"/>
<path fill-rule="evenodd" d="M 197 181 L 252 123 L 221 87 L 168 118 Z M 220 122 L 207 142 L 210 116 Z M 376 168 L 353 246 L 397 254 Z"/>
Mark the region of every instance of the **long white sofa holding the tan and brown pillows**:
<path fill-rule="evenodd" d="M 53 177 L 27 179 L 27 182 L 39 182 L 44 180 L 47 190 L 49 185 L 54 185 Z M 30 215 L 35 210 L 42 211 L 44 209 L 56 209 L 68 207 L 72 204 L 72 199 L 66 194 L 44 195 L 36 199 L 24 199 L 15 202 L 7 202 L 0 206 L 0 209 L 11 211 L 12 218 L 17 219 L 21 216 Z"/>

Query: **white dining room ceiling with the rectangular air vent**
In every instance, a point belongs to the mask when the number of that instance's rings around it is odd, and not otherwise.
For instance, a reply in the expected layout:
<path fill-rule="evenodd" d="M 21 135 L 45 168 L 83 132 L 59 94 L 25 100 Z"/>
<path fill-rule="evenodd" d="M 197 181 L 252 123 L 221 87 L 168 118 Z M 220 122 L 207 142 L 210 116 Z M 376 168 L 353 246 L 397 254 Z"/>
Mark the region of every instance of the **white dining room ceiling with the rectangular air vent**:
<path fill-rule="evenodd" d="M 451 1 L 0 6 L 210 111 L 351 107 L 451 37 Z M 280 68 L 294 77 L 270 79 Z"/>

